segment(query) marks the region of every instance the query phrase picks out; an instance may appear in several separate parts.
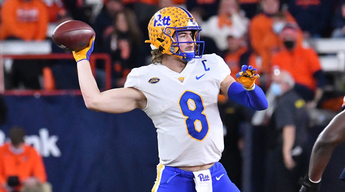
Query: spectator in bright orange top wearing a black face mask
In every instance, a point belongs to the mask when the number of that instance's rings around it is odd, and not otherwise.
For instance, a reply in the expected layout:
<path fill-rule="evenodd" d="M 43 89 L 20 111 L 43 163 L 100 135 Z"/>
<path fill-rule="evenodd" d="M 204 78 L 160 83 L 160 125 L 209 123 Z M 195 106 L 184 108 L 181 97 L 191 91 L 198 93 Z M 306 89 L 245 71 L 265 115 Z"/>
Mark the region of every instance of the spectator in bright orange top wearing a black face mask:
<path fill-rule="evenodd" d="M 298 40 L 298 26 L 287 23 L 280 33 L 284 49 L 273 58 L 273 65 L 292 74 L 296 81 L 295 91 L 307 101 L 308 108 L 315 108 L 323 95 L 325 75 L 317 53 L 303 48 Z"/>

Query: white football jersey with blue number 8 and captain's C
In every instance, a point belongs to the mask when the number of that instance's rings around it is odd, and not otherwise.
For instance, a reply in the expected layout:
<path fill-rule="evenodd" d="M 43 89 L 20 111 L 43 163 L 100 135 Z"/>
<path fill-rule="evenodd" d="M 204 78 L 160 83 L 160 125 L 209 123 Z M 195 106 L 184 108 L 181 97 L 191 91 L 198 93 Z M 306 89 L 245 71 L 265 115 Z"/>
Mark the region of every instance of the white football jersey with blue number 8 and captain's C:
<path fill-rule="evenodd" d="M 165 65 L 132 69 L 125 87 L 142 91 L 143 109 L 157 128 L 160 163 L 196 166 L 217 162 L 224 149 L 217 101 L 220 83 L 230 74 L 216 54 L 187 63 L 181 73 Z"/>

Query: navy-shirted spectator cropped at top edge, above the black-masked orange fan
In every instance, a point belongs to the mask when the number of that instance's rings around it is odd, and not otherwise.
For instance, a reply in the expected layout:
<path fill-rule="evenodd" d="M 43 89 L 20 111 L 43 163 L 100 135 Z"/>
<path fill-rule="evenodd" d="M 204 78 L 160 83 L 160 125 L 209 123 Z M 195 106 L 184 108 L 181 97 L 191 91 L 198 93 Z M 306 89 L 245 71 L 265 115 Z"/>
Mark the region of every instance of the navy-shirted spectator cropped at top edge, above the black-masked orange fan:
<path fill-rule="evenodd" d="M 329 0 L 290 0 L 288 10 L 304 33 L 304 38 L 323 37 L 329 22 Z"/>

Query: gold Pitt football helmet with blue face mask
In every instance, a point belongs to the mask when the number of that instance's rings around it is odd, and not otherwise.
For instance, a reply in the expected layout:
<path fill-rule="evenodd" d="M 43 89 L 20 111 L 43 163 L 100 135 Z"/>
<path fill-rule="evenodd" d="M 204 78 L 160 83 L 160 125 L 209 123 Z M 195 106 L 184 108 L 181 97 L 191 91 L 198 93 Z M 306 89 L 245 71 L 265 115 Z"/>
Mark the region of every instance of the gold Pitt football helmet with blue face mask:
<path fill-rule="evenodd" d="M 148 25 L 152 50 L 160 50 L 163 53 L 173 55 L 183 61 L 190 61 L 193 58 L 201 58 L 204 50 L 204 41 L 199 41 L 201 27 L 195 21 L 194 17 L 185 9 L 179 7 L 167 7 L 159 10 L 151 18 Z M 191 31 L 194 41 L 179 42 L 172 38 L 178 31 Z M 194 51 L 183 51 L 179 43 L 193 43 Z M 203 46 L 202 48 L 200 46 Z"/>

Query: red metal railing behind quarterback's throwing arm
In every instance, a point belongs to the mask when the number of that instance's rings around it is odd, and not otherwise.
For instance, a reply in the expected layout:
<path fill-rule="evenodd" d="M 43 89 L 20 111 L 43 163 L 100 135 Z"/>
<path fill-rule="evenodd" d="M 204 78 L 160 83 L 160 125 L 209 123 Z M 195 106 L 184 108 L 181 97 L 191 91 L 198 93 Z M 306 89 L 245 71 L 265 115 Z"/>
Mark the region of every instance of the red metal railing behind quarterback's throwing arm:
<path fill-rule="evenodd" d="M 72 59 L 73 55 L 71 53 L 51 53 L 51 54 L 32 54 L 32 55 L 0 55 L 0 88 L 2 88 L 1 93 L 4 95 L 64 95 L 64 94 L 76 94 L 80 95 L 80 90 L 5 90 L 4 89 L 4 73 L 3 73 L 3 59 L 12 58 L 17 60 L 26 59 L 46 59 L 46 60 L 58 60 L 58 59 Z M 96 60 L 103 60 L 105 63 L 105 90 L 111 89 L 111 58 L 107 53 L 93 53 L 90 56 L 90 66 L 92 70 L 93 77 L 96 77 Z"/>

